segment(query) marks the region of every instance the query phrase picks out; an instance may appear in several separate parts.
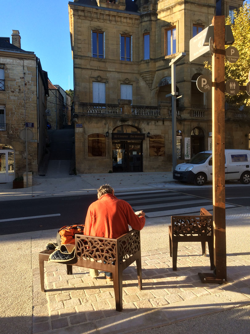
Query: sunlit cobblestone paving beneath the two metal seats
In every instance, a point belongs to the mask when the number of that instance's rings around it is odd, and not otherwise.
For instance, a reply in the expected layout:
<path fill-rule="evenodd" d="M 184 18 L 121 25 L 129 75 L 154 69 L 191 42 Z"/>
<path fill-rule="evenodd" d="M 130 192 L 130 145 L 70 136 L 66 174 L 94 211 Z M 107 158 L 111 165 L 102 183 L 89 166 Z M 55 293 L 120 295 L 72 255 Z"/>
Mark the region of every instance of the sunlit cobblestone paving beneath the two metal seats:
<path fill-rule="evenodd" d="M 34 254 L 37 257 L 37 253 Z M 38 261 L 33 268 L 33 332 L 44 334 L 134 333 L 179 320 L 250 304 L 250 261 L 227 257 L 227 284 L 204 284 L 198 272 L 210 272 L 201 247 L 178 247 L 177 271 L 169 250 L 142 252 L 143 290 L 131 265 L 123 272 L 123 310 L 115 310 L 112 282 L 104 273 L 93 279 L 89 270 L 45 262 L 41 292 Z"/>

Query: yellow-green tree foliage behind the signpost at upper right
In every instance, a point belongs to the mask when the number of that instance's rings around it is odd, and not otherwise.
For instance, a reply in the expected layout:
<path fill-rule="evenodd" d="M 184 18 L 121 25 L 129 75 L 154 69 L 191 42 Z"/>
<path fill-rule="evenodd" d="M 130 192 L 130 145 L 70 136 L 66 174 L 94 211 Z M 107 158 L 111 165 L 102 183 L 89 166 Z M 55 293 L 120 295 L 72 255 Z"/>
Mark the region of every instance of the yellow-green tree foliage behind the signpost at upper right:
<path fill-rule="evenodd" d="M 239 51 L 239 59 L 236 63 L 230 63 L 225 58 L 225 81 L 235 79 L 240 86 L 246 86 L 250 70 L 250 5 L 244 2 L 237 12 L 234 12 L 234 24 L 231 17 L 225 19 L 225 24 L 230 24 L 234 35 L 233 46 Z M 226 45 L 225 48 L 230 45 Z M 212 69 L 211 64 L 205 62 L 205 68 Z M 250 106 L 250 96 L 246 91 L 240 91 L 237 95 L 230 96 L 226 93 L 226 102 L 237 106 Z"/>

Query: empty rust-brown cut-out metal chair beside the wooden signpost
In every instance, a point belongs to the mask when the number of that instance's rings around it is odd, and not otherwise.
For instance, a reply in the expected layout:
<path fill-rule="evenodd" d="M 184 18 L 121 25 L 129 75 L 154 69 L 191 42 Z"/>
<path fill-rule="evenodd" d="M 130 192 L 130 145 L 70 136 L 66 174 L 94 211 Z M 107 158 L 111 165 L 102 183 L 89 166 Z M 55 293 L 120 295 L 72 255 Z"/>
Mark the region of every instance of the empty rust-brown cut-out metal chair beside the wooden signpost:
<path fill-rule="evenodd" d="M 213 215 L 210 212 L 201 208 L 199 216 L 171 216 L 168 232 L 173 270 L 177 270 L 178 242 L 192 241 L 201 242 L 202 255 L 204 256 L 206 256 L 206 242 L 208 243 L 210 270 L 214 269 Z"/>

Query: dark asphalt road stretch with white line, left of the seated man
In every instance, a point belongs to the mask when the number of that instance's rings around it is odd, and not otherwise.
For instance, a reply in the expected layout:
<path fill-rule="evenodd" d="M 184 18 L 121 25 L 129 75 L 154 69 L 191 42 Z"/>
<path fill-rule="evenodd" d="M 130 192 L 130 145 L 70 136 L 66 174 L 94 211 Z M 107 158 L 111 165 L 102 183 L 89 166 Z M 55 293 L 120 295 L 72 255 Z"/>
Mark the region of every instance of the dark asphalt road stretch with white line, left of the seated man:
<path fill-rule="evenodd" d="M 1 202 L 0 235 L 83 224 L 95 200 L 96 195 L 84 195 Z"/>

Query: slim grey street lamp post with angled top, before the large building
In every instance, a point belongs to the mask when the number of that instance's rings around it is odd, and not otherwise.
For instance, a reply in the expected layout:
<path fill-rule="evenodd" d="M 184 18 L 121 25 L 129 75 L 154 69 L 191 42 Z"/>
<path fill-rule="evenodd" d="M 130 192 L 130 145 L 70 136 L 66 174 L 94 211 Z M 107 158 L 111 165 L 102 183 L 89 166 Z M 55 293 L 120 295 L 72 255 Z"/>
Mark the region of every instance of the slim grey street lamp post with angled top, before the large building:
<path fill-rule="evenodd" d="M 171 66 L 171 93 L 166 95 L 166 98 L 171 96 L 171 108 L 172 108 L 172 170 L 174 170 L 177 165 L 177 154 L 176 154 L 176 68 L 175 65 L 178 61 L 184 58 L 185 52 L 181 52 L 172 59 L 169 63 Z"/>

